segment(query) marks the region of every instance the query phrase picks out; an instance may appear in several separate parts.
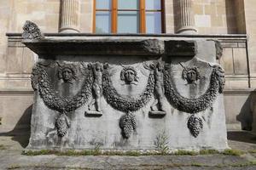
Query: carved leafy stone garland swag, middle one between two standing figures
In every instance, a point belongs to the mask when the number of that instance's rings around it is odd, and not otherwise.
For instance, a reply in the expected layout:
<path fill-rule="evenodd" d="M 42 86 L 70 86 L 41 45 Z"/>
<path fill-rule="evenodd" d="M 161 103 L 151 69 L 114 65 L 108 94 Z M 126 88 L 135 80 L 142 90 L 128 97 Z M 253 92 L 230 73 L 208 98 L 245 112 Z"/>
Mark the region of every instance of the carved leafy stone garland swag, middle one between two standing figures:
<path fill-rule="evenodd" d="M 108 66 L 105 65 L 105 69 L 102 74 L 102 88 L 103 95 L 108 104 L 114 109 L 128 113 L 129 111 L 137 111 L 148 103 L 154 93 L 154 72 L 151 72 L 148 77 L 147 87 L 143 91 L 143 94 L 137 97 L 122 97 L 115 88 L 113 88 L 113 82 L 110 79 L 108 73 Z"/>

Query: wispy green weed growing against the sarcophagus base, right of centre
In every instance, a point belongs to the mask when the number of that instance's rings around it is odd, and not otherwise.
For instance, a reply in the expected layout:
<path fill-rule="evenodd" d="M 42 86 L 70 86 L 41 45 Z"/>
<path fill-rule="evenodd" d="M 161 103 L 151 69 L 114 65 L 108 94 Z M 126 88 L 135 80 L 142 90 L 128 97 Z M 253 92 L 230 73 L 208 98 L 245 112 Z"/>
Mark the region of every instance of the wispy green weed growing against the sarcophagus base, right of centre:
<path fill-rule="evenodd" d="M 160 154 L 166 155 L 169 151 L 169 138 L 166 135 L 166 132 L 163 131 L 162 133 L 158 134 L 156 136 L 156 139 L 154 140 L 154 146 L 157 150 L 160 151 Z"/>

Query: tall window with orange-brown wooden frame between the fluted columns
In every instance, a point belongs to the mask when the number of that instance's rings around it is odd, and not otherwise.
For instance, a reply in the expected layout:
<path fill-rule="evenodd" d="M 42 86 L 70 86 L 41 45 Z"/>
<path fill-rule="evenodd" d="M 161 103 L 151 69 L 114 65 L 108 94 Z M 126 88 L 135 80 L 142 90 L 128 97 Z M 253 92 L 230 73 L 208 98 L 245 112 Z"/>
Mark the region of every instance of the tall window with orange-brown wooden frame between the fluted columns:
<path fill-rule="evenodd" d="M 162 33 L 163 0 L 94 0 L 94 33 Z"/>

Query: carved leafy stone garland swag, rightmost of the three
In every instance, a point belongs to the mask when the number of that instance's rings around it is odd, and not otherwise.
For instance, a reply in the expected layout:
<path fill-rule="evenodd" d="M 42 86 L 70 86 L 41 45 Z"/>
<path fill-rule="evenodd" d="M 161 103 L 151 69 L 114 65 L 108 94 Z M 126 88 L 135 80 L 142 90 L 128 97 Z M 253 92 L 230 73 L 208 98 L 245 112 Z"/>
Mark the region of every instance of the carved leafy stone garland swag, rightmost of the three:
<path fill-rule="evenodd" d="M 177 89 L 173 87 L 172 77 L 170 75 L 170 68 L 164 71 L 164 86 L 165 94 L 168 101 L 172 106 L 177 108 L 178 111 L 197 113 L 205 111 L 212 105 L 214 99 L 218 96 L 218 93 L 222 93 L 224 88 L 224 70 L 218 66 L 213 65 L 210 83 L 205 94 L 202 94 L 199 98 L 185 98 L 177 93 Z"/>

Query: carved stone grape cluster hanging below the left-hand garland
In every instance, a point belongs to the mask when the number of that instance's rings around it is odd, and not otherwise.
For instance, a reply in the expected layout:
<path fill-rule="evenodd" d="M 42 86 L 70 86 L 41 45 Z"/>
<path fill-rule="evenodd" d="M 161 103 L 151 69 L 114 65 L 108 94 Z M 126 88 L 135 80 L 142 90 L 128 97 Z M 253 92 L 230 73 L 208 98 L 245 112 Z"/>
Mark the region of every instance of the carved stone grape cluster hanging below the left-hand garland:
<path fill-rule="evenodd" d="M 58 116 L 55 126 L 57 128 L 58 136 L 64 137 L 67 134 L 67 129 L 70 127 L 70 122 L 65 114 Z"/>

